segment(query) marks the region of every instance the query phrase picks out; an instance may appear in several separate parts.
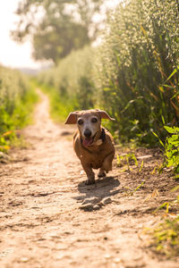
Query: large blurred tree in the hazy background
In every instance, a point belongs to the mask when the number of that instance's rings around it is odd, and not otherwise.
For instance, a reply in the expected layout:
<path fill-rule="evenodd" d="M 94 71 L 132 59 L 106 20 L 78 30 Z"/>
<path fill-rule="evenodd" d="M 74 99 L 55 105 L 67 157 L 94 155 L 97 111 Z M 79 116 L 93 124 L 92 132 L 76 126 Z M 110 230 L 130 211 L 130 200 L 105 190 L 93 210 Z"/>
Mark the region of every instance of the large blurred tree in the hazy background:
<path fill-rule="evenodd" d="M 98 23 L 94 15 L 100 13 L 103 0 L 25 0 L 16 14 L 19 16 L 13 39 L 23 42 L 30 37 L 36 60 L 59 59 L 73 49 L 90 44 L 97 37 Z"/>

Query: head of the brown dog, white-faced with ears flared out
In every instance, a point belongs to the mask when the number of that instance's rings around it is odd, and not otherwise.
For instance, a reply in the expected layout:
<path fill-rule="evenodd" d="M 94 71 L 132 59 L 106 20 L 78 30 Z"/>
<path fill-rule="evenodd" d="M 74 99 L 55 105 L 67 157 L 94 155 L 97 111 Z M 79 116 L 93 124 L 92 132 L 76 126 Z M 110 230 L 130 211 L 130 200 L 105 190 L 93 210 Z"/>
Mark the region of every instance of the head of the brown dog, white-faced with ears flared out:
<path fill-rule="evenodd" d="M 92 109 L 76 111 L 68 115 L 65 124 L 77 124 L 85 147 L 93 145 L 101 133 L 101 119 L 115 120 L 107 112 Z"/>

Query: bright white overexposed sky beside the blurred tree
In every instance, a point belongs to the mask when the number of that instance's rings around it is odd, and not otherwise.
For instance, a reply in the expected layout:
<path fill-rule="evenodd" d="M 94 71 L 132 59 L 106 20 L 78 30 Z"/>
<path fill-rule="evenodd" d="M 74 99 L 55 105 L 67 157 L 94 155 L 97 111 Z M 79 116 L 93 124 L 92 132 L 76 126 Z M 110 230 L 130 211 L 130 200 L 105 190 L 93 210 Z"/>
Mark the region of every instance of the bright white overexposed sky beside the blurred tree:
<path fill-rule="evenodd" d="M 108 5 L 113 6 L 120 0 L 109 0 Z M 18 21 L 14 14 L 20 0 L 0 1 L 0 64 L 13 68 L 38 69 L 41 63 L 35 62 L 32 57 L 30 41 L 19 45 L 10 37 L 10 30 L 15 29 L 15 21 Z"/>

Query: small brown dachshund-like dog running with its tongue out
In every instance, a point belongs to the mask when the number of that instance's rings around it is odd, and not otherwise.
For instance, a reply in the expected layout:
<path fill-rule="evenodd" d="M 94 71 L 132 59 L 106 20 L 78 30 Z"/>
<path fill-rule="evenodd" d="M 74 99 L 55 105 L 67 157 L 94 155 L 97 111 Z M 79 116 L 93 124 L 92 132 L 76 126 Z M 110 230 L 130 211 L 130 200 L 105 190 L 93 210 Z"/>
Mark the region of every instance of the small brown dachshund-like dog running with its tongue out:
<path fill-rule="evenodd" d="M 87 174 L 87 185 L 95 183 L 95 173 L 92 169 L 99 169 L 99 178 L 112 171 L 114 140 L 110 132 L 101 126 L 101 119 L 115 121 L 107 112 L 99 109 L 69 113 L 65 121 L 65 124 L 78 126 L 73 136 L 73 148 Z"/>

